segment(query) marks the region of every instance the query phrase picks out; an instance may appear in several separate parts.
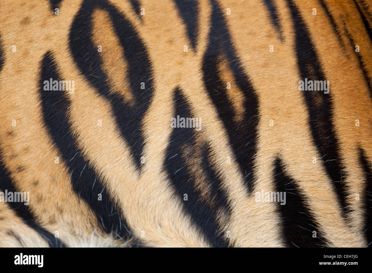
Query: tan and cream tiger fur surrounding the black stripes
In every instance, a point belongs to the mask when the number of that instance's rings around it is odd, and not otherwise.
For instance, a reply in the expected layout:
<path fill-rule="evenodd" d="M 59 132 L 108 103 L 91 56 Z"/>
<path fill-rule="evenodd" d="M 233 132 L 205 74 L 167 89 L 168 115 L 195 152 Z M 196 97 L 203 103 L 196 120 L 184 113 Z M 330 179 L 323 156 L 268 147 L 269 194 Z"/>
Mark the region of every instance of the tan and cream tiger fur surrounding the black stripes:
<path fill-rule="evenodd" d="M 259 142 L 254 181 L 254 192 L 275 191 L 272 163 L 279 154 L 286 163 L 286 172 L 298 181 L 306 196 L 320 231 L 329 240 L 330 247 L 365 247 L 363 237 L 363 198 L 355 194 L 363 191 L 364 174 L 359 162 L 357 145 L 363 147 L 369 163 L 372 162 L 370 87 L 365 84 L 354 48 L 344 33 L 340 45 L 330 22 L 317 1 L 294 1 L 315 44 L 322 68 L 332 84 L 330 94 L 335 130 L 340 140 L 340 151 L 349 177 L 348 205 L 355 209 L 345 220 L 330 179 L 320 163 L 311 141 L 307 105 L 298 91 L 300 75 L 294 49 L 294 29 L 286 1 L 275 1 L 282 23 L 285 41 L 280 42 L 270 23 L 262 1 L 220 0 L 219 6 L 226 16 L 228 30 L 244 72 L 250 75 L 259 98 Z M 372 78 L 371 41 L 352 1 L 325 1 L 336 23 L 344 25 L 356 44 Z M 6 62 L 0 72 L 0 148 L 6 168 L 17 189 L 29 191 L 29 208 L 39 224 L 51 232 L 59 231 L 68 246 L 127 246 L 129 242 L 114 241 L 105 234 L 92 209 L 79 198 L 69 183 L 66 162 L 55 164 L 58 150 L 49 136 L 42 119 L 38 93 L 40 62 L 47 51 L 52 51 L 58 69 L 65 79 L 75 80 L 75 92 L 69 94 L 69 123 L 78 140 L 84 158 L 90 160 L 94 170 L 109 189 L 109 195 L 122 208 L 134 237 L 153 247 L 209 246 L 185 214 L 180 199 L 170 186 L 163 170 L 163 159 L 171 134 L 169 120 L 175 116 L 173 90 L 179 86 L 192 105 L 193 116 L 202 119 L 198 133 L 200 143 L 212 148 L 213 168 L 222 178 L 222 188 L 232 208 L 229 220 L 219 212 L 224 231 L 231 232 L 231 241 L 239 247 L 280 247 L 278 211 L 273 203 L 257 203 L 254 195 L 247 195 L 244 174 L 234 160 L 228 144 L 226 128 L 217 110 L 204 90 L 201 75 L 203 53 L 208 43 L 211 5 L 199 0 L 199 33 L 197 48 L 187 38 L 186 26 L 171 0 L 141 0 L 145 8 L 142 22 L 129 1 L 110 1 L 125 14 L 143 40 L 153 65 L 155 93 L 142 120 L 145 163 L 142 173 L 136 171 L 128 143 L 118 130 L 111 105 L 99 96 L 81 75 L 68 46 L 68 33 L 81 1 L 64 0 L 60 15 L 51 13 L 48 1 L 1 1 L 0 34 Z M 249 8 L 248 8 L 249 6 Z M 317 8 L 317 16 L 311 14 Z M 372 7 L 369 6 L 370 12 Z M 134 97 L 126 81 L 128 64 L 124 52 L 103 10 L 96 10 L 93 19 L 93 42 L 102 45 L 105 72 L 109 76 L 111 92 L 118 92 L 123 101 Z M 12 52 L 12 45 L 17 51 Z M 188 45 L 188 52 L 183 46 Z M 269 46 L 274 45 L 274 52 Z M 232 77 L 226 59 L 219 62 L 223 82 L 231 83 L 228 98 L 234 105 L 235 118 L 241 120 L 244 112 L 241 90 Z M 223 86 L 222 88 L 226 88 Z M 17 122 L 12 127 L 12 120 Z M 355 120 L 360 120 L 360 127 Z M 102 120 L 102 127 L 97 126 Z M 269 126 L 273 120 L 274 126 Z M 185 147 L 187 152 L 187 147 Z M 200 164 L 198 154 L 189 159 L 189 168 Z M 231 163 L 227 163 L 227 157 Z M 22 171 L 17 171 L 22 169 Z M 198 189 L 208 196 L 208 184 L 203 173 L 193 173 Z M 362 195 L 361 195 L 362 196 Z M 13 231 L 22 244 L 9 235 Z M 6 205 L 0 203 L 0 246 L 39 246 L 48 244 L 35 231 L 27 227 Z"/>

